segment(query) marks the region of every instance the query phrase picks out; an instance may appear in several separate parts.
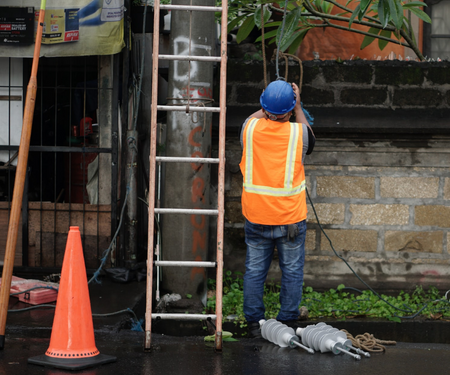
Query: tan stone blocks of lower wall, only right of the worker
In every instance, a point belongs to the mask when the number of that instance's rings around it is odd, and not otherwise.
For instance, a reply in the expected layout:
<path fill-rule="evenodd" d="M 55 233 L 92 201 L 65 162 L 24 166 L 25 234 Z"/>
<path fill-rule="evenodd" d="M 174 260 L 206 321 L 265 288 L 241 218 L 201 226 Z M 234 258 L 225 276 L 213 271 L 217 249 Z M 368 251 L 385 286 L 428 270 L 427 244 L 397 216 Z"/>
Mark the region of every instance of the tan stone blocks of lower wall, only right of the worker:
<path fill-rule="evenodd" d="M 387 153 L 391 147 L 381 147 L 379 152 Z M 326 149 L 319 143 L 316 152 L 326 153 Z M 450 161 L 446 147 L 434 151 Z M 448 283 L 448 168 L 417 167 L 405 159 L 388 165 L 374 160 L 372 165 L 329 167 L 316 163 L 320 155 L 314 156 L 306 166 L 308 190 L 319 221 L 340 254 L 361 263 L 361 272 L 380 282 L 387 275 L 371 272 L 368 262 L 396 264 L 396 274 L 390 276 L 405 283 L 412 277 L 423 282 L 427 275 L 442 286 Z M 344 151 L 341 158 L 345 157 Z M 307 253 L 335 256 L 310 204 L 307 221 Z"/>

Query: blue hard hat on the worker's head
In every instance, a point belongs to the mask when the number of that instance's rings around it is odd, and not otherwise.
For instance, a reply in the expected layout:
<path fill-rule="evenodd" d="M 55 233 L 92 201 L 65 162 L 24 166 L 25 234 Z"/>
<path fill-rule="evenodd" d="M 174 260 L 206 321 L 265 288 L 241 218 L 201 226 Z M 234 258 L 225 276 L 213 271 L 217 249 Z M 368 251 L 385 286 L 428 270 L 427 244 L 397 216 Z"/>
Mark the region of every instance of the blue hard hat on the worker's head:
<path fill-rule="evenodd" d="M 271 82 L 259 101 L 265 111 L 274 115 L 284 115 L 292 111 L 297 102 L 292 86 L 281 80 Z"/>

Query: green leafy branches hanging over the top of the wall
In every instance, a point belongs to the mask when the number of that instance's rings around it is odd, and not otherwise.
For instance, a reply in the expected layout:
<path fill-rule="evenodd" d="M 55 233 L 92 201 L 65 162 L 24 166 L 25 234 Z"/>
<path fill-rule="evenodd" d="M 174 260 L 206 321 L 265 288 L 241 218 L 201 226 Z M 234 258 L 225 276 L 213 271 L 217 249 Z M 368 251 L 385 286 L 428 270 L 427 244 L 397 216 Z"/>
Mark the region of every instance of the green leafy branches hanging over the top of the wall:
<path fill-rule="evenodd" d="M 228 32 L 238 28 L 238 43 L 245 40 L 255 27 L 261 29 L 264 24 L 267 29 L 264 38 L 268 43 L 277 43 L 280 51 L 291 54 L 295 53 L 312 28 L 332 27 L 365 35 L 361 49 L 378 39 L 381 50 L 388 43 L 396 43 L 411 48 L 423 60 L 410 16 L 414 14 L 424 22 L 431 23 L 430 17 L 422 10 L 422 7 L 427 6 L 422 1 L 348 0 L 345 5 L 335 0 L 289 1 L 283 36 L 280 39 L 285 1 L 231 0 L 228 3 Z M 351 3 L 355 4 L 354 9 L 349 7 Z M 332 14 L 333 8 L 338 8 L 340 13 Z M 353 27 L 355 24 L 366 26 L 368 30 L 356 29 Z M 256 41 L 262 41 L 262 38 Z"/>

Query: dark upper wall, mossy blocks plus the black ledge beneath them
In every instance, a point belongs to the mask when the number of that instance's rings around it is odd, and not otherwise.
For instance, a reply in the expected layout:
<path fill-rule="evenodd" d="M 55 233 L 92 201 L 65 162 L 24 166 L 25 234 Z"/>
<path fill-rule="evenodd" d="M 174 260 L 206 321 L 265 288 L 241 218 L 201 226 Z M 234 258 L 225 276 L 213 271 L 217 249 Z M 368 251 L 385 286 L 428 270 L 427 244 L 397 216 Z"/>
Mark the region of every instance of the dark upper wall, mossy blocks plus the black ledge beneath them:
<path fill-rule="evenodd" d="M 450 62 L 291 62 L 287 80 L 301 84 L 302 101 L 320 136 L 366 133 L 450 135 Z M 227 127 L 235 132 L 259 107 L 265 87 L 260 61 L 231 60 L 227 78 Z M 279 73 L 286 68 L 280 63 Z M 302 79 L 301 79 L 302 77 Z M 268 82 L 276 79 L 267 67 Z M 218 85 L 216 85 L 218 87 Z M 355 134 L 356 133 L 356 134 Z"/>

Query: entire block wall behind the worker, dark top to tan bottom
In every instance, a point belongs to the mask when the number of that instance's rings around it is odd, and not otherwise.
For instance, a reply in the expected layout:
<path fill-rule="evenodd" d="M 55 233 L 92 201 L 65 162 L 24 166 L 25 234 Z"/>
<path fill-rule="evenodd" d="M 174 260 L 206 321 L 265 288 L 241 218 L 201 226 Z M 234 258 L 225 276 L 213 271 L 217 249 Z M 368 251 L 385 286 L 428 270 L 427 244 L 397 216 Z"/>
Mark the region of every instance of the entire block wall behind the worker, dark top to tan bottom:
<path fill-rule="evenodd" d="M 308 191 L 336 251 L 377 288 L 450 287 L 448 65 L 303 64 L 302 99 L 317 136 L 305 162 Z M 224 252 L 232 270 L 243 271 L 245 259 L 238 133 L 258 108 L 261 78 L 261 63 L 230 62 Z M 305 282 L 363 287 L 308 208 Z M 275 261 L 270 277 L 279 275 Z"/>

